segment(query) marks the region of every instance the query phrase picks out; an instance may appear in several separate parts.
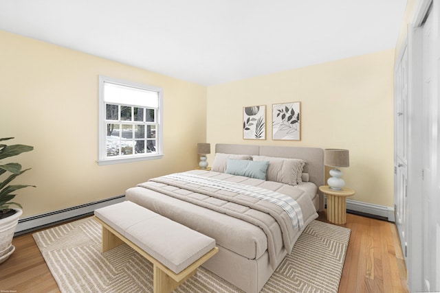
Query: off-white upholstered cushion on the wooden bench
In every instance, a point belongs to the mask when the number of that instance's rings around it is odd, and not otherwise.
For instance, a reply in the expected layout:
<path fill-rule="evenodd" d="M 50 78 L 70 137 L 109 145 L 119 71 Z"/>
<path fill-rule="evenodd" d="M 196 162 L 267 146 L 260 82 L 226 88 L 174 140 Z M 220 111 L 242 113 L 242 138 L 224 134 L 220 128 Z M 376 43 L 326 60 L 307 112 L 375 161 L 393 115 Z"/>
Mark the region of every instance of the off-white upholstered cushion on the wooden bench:
<path fill-rule="evenodd" d="M 176 274 L 215 246 L 211 237 L 133 202 L 96 209 L 95 215 Z"/>

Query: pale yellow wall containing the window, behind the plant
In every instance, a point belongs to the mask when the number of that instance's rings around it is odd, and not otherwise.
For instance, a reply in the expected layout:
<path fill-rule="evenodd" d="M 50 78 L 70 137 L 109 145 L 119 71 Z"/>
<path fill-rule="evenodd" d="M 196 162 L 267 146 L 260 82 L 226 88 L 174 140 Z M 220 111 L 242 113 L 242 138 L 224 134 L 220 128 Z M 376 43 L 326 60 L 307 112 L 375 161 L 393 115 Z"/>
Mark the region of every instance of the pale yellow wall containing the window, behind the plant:
<path fill-rule="evenodd" d="M 206 87 L 0 31 L 0 137 L 34 146 L 15 184 L 23 216 L 124 194 L 197 165 L 206 140 Z M 98 75 L 164 89 L 164 158 L 99 166 Z M 6 160 L 3 162 L 6 163 Z"/>

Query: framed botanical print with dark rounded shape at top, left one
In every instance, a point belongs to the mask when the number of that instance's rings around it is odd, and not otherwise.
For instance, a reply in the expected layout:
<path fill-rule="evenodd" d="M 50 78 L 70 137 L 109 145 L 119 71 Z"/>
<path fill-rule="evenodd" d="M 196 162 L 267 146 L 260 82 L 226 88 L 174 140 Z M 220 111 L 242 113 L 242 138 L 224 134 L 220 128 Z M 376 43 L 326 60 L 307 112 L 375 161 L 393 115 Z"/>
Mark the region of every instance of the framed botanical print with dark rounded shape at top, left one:
<path fill-rule="evenodd" d="M 243 107 L 243 139 L 266 139 L 266 106 Z"/>

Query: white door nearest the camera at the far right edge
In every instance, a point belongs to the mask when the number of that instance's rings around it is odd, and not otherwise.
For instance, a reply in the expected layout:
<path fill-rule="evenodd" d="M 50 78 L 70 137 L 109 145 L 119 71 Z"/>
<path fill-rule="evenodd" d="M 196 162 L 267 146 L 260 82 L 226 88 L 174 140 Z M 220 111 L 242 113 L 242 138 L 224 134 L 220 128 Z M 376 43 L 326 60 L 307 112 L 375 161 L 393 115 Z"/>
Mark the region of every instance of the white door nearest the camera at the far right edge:
<path fill-rule="evenodd" d="M 440 291 L 439 78 L 440 1 L 433 1 L 423 25 L 422 194 L 423 278 L 427 292 Z"/>

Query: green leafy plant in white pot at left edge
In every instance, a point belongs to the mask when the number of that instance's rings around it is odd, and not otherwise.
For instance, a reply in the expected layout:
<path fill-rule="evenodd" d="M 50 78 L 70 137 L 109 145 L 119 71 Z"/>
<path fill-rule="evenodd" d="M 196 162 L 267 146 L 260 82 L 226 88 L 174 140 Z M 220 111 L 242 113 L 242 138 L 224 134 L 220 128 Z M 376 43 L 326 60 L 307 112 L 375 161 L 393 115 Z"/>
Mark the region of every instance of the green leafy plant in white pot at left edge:
<path fill-rule="evenodd" d="M 0 141 L 7 141 L 13 138 L 14 137 L 8 137 L 0 139 Z M 31 150 L 34 150 L 34 147 L 30 145 L 0 144 L 0 160 L 10 156 L 17 156 L 22 152 L 30 152 Z M 23 211 L 21 211 L 23 208 L 21 204 L 11 201 L 16 196 L 12 193 L 24 187 L 35 187 L 34 185 L 10 185 L 10 182 L 14 180 L 14 178 L 26 171 L 28 171 L 28 169 L 22 170 L 19 163 L 0 165 L 0 178 L 4 178 L 3 181 L 0 182 L 0 263 L 8 259 L 15 250 L 12 245 L 12 238 L 14 237 L 15 227 L 19 222 L 19 217 L 23 213 Z M 12 205 L 20 209 L 11 208 L 10 206 Z"/>

